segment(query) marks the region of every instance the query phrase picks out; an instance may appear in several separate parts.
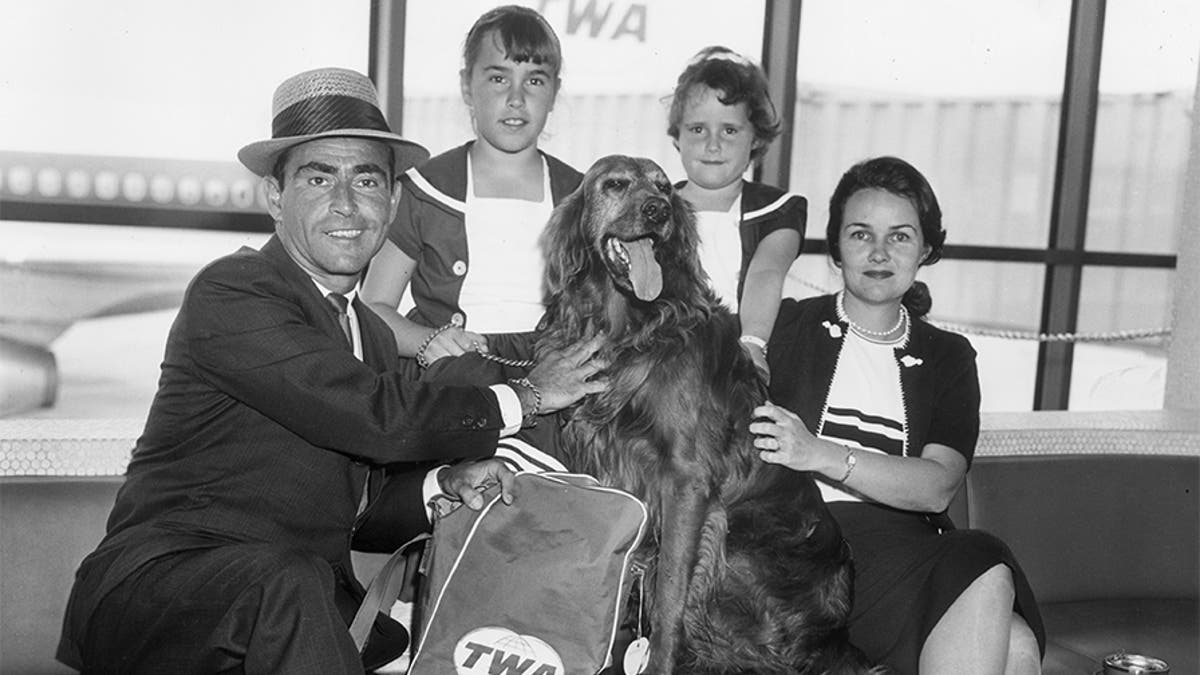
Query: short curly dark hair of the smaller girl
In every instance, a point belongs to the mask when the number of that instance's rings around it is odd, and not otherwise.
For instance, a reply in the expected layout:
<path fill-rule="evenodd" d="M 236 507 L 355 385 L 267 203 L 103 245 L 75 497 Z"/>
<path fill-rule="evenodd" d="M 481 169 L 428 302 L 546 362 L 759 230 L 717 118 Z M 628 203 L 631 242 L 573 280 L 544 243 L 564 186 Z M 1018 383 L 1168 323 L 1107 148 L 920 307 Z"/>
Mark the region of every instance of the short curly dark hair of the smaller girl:
<path fill-rule="evenodd" d="M 782 125 L 775 104 L 770 101 L 767 74 L 762 68 L 727 47 L 704 47 L 692 56 L 676 82 L 671 110 L 667 113 L 667 135 L 671 138 L 679 139 L 684 107 L 696 86 L 716 91 L 716 100 L 726 106 L 746 104 L 746 117 L 750 118 L 757 141 L 750 150 L 751 160 L 761 157 L 779 136 Z"/>

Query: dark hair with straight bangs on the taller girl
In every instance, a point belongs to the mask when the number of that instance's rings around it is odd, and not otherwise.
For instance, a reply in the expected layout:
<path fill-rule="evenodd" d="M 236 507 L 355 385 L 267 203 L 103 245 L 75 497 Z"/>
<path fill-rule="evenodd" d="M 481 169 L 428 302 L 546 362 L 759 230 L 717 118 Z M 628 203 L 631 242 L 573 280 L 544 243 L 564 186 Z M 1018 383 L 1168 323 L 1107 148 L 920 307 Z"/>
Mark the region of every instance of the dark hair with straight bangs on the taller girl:
<path fill-rule="evenodd" d="M 475 67 L 484 38 L 494 32 L 498 46 L 504 55 L 518 64 L 533 62 L 546 66 L 554 76 L 554 89 L 558 89 L 558 74 L 563 67 L 563 47 L 558 35 L 550 28 L 546 19 L 520 5 L 504 5 L 488 10 L 475 20 L 467 31 L 462 47 L 462 61 L 467 73 Z"/>

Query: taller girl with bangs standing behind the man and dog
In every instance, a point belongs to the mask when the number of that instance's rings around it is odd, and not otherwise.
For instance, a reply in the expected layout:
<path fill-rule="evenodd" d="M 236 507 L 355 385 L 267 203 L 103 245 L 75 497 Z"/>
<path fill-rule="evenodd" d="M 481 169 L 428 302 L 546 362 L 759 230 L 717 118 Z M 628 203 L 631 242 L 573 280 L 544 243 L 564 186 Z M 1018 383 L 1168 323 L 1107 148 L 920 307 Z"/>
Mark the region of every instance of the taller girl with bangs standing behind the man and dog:
<path fill-rule="evenodd" d="M 494 350 L 497 334 L 532 330 L 544 312 L 538 238 L 554 205 L 582 180 L 538 141 L 562 80 L 558 36 L 515 5 L 467 32 L 462 98 L 475 138 L 401 178 L 389 241 L 362 295 L 419 365 Z M 412 286 L 414 307 L 397 312 Z"/>

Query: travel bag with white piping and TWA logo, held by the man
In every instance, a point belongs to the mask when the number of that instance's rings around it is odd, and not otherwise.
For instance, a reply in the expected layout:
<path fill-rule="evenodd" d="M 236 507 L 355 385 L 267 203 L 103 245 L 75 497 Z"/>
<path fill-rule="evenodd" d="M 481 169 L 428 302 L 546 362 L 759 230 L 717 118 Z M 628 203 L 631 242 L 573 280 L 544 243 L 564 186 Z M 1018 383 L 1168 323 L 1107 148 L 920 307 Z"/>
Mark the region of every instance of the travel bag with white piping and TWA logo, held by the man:
<path fill-rule="evenodd" d="M 516 476 L 436 518 L 409 675 L 593 675 L 610 663 L 646 504 L 590 476 Z"/>

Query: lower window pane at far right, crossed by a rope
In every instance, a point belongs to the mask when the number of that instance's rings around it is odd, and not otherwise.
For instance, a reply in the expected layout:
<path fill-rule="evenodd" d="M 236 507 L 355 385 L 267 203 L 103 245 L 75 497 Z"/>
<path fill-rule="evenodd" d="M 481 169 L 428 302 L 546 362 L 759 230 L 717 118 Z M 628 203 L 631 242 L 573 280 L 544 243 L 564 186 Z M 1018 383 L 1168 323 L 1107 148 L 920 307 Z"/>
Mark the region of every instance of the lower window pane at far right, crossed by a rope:
<path fill-rule="evenodd" d="M 1163 407 L 1172 270 L 1087 268 L 1070 374 L 1070 410 Z M 1158 334 L 1157 336 L 1134 336 Z"/>

